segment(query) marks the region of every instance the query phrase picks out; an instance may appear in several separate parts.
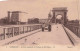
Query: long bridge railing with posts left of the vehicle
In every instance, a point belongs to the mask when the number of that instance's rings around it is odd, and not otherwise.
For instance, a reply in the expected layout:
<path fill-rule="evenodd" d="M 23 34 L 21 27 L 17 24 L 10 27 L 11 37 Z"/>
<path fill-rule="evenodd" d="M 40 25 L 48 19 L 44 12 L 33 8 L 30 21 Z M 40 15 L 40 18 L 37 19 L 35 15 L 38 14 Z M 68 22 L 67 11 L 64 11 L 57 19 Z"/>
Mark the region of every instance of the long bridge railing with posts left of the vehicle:
<path fill-rule="evenodd" d="M 10 37 L 14 37 L 20 34 L 25 34 L 37 29 L 40 29 L 42 25 L 23 25 L 23 26 L 11 26 L 0 28 L 0 40 L 4 40 Z"/>

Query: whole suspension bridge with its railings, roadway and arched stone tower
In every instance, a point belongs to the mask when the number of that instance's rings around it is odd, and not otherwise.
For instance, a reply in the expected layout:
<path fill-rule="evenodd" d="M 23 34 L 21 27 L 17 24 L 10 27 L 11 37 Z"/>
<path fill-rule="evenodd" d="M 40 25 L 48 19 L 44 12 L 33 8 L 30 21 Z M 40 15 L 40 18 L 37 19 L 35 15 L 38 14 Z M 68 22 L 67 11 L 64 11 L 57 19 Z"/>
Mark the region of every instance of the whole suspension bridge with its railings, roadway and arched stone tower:
<path fill-rule="evenodd" d="M 0 27 L 0 45 L 79 44 L 80 26 L 67 22 L 67 9 L 53 8 L 52 12 L 53 16 L 49 14 L 47 19 L 47 23 L 51 24 L 50 32 L 43 32 L 42 24 L 4 25 Z M 60 23 L 57 23 L 57 15 L 62 15 Z"/>

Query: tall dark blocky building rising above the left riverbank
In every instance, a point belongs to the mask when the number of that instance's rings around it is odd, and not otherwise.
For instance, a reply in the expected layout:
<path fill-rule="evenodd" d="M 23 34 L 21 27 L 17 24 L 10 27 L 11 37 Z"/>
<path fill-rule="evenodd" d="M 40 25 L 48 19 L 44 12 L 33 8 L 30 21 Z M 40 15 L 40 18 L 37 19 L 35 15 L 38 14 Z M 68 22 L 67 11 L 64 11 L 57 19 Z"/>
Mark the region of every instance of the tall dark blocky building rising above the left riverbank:
<path fill-rule="evenodd" d="M 20 24 L 19 12 L 20 11 L 8 11 L 8 22 L 10 24 Z"/>

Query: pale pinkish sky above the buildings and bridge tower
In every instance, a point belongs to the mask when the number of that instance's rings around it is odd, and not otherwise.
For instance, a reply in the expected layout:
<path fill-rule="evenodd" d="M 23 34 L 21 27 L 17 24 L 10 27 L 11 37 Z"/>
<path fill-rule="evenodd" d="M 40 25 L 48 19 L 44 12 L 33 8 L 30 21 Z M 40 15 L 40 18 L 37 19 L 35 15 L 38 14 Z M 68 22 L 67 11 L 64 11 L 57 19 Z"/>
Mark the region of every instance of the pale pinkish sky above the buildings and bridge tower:
<path fill-rule="evenodd" d="M 7 17 L 7 11 L 22 11 L 20 20 L 28 18 L 48 18 L 50 10 L 55 7 L 67 7 L 69 20 L 79 19 L 78 0 L 7 0 L 0 1 L 0 18 Z"/>

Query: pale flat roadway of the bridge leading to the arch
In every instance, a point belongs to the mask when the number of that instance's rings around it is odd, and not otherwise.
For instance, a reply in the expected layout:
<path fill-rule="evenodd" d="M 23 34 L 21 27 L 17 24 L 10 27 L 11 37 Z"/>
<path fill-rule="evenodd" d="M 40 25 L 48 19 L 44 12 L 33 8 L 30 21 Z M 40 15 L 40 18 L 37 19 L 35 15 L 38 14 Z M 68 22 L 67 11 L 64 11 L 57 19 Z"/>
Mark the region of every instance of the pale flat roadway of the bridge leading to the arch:
<path fill-rule="evenodd" d="M 25 37 L 19 41 L 16 41 L 12 44 L 18 45 L 32 45 L 32 44 L 59 44 L 59 45 L 72 45 L 66 32 L 64 31 L 62 25 L 57 24 L 52 26 L 52 31 L 48 32 L 45 30 L 44 32 L 40 31 L 31 35 L 29 37 Z"/>

